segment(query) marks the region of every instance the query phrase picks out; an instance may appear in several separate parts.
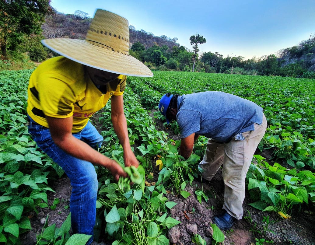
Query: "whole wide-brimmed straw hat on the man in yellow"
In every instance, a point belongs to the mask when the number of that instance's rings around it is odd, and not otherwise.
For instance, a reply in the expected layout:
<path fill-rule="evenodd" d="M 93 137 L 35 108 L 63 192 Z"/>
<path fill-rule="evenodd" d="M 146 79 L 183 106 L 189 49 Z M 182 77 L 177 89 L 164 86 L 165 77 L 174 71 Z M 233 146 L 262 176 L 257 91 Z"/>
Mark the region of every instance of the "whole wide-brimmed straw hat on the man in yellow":
<path fill-rule="evenodd" d="M 42 43 L 86 66 L 127 76 L 153 76 L 148 67 L 129 55 L 128 20 L 103 9 L 96 10 L 86 40 L 52 38 Z"/>

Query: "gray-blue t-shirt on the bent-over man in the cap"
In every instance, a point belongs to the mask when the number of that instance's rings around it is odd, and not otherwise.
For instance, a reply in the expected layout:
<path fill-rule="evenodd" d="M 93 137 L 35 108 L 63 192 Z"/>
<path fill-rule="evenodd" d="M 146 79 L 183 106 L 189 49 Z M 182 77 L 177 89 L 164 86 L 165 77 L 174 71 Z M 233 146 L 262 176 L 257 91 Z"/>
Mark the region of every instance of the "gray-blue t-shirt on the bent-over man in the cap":
<path fill-rule="evenodd" d="M 263 117 L 254 102 L 216 91 L 178 96 L 177 109 L 181 138 L 196 133 L 218 142 L 235 136 L 243 140 L 238 134 L 254 130 L 254 123 L 261 124 Z"/>

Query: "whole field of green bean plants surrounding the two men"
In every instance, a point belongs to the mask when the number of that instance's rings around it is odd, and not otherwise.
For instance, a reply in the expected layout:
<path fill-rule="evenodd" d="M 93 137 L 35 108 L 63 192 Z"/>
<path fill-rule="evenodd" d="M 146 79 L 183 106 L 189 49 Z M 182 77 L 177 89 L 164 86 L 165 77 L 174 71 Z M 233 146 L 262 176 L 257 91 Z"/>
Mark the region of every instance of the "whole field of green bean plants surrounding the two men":
<path fill-rule="evenodd" d="M 0 242 L 6 244 L 19 244 L 20 235 L 31 229 L 28 214 L 48 207 L 47 192 L 53 191 L 50 180 L 63 174 L 27 133 L 26 91 L 30 74 L 31 70 L 0 72 Z M 295 205 L 314 207 L 314 84 L 314 79 L 192 72 L 154 71 L 152 78 L 128 77 L 125 114 L 130 142 L 146 170 L 147 185 L 144 192 L 138 185 L 126 189 L 114 183 L 106 169 L 96 167 L 100 182 L 98 217 L 106 220 L 105 232 L 112 237 L 112 244 L 169 244 L 167 231 L 180 221 L 169 216 L 176 203 L 170 202 L 165 194 L 171 191 L 188 197 L 191 194 L 185 187 L 198 177 L 195 166 L 203 155 L 206 139 L 200 138 L 194 154 L 185 161 L 177 155 L 179 141 L 158 131 L 149 115 L 167 92 L 224 91 L 263 107 L 268 128 L 259 150 L 272 152 L 273 158 L 267 161 L 255 155 L 246 184 L 252 206 L 284 216 Z M 123 162 L 109 108 L 110 104 L 96 115 L 104 137 L 100 152 Z M 165 120 L 158 112 L 154 113 L 154 119 Z M 179 133 L 175 122 L 169 125 L 169 130 Z M 161 171 L 158 176 L 152 176 L 152 162 L 156 161 Z M 207 203 L 205 193 L 199 191 L 195 195 L 200 203 Z M 38 244 L 49 244 L 49 241 L 75 244 L 70 242 L 82 240 L 82 236 L 70 237 L 69 222 L 67 219 L 61 228 L 47 227 L 38 235 Z M 212 239 L 223 241 L 222 232 L 215 225 L 213 229 Z M 198 234 L 192 239 L 204 244 Z"/>

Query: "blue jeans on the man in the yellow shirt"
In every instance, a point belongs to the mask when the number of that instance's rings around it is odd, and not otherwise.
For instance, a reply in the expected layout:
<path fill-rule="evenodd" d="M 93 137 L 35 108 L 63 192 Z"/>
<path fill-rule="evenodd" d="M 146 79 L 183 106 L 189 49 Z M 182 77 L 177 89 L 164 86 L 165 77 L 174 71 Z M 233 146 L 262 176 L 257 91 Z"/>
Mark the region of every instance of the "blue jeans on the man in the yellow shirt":
<path fill-rule="evenodd" d="M 72 232 L 92 235 L 86 243 L 91 244 L 93 242 L 98 190 L 97 174 L 93 164 L 72 157 L 61 150 L 52 140 L 49 128 L 39 125 L 29 116 L 28 132 L 38 147 L 51 157 L 69 177 L 72 185 L 70 197 Z M 74 133 L 73 136 L 93 148 L 100 147 L 103 142 L 103 137 L 97 132 L 91 122 L 88 122 L 80 132 Z"/>

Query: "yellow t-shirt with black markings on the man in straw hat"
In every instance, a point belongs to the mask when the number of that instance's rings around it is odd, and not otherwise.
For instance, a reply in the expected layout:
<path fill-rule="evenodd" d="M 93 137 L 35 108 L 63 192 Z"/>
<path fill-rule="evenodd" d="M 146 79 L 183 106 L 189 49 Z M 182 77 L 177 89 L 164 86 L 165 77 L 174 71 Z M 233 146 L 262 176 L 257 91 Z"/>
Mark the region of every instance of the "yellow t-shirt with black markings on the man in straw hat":
<path fill-rule="evenodd" d="M 101 90 L 84 66 L 63 56 L 44 61 L 31 74 L 27 93 L 27 113 L 38 124 L 49 128 L 45 116 L 73 117 L 72 133 L 79 132 L 89 118 L 104 107 L 112 95 L 122 95 L 126 76 L 107 83 Z"/>

